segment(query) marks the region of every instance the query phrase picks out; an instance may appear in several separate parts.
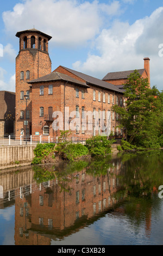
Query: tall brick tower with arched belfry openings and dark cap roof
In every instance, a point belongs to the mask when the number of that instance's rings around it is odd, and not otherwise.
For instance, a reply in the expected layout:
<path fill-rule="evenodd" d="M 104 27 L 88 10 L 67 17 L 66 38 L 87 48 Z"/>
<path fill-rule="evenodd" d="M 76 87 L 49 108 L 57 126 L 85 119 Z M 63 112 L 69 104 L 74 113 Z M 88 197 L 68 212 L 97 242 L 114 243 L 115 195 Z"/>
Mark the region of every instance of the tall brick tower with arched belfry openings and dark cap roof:
<path fill-rule="evenodd" d="M 32 133 L 32 87 L 27 82 L 52 71 L 48 53 L 48 41 L 52 36 L 35 28 L 17 32 L 16 36 L 20 38 L 20 51 L 16 57 L 15 134 L 20 136 L 22 130 L 26 135 L 26 118 L 27 135 Z M 24 95 L 28 95 L 27 109 Z"/>

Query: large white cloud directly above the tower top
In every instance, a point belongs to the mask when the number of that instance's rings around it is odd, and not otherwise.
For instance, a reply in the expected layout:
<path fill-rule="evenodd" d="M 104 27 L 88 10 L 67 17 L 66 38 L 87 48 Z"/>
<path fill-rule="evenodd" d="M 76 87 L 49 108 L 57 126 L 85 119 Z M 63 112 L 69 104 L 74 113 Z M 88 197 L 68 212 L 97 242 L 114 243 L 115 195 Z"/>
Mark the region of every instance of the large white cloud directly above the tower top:
<path fill-rule="evenodd" d="M 64 46 L 83 45 L 99 33 L 105 15 L 120 14 L 120 2 L 111 4 L 77 0 L 26 0 L 4 11 L 5 29 L 15 31 L 35 26 L 51 36 L 51 42 Z M 12 21 L 12 22 L 11 22 Z"/>

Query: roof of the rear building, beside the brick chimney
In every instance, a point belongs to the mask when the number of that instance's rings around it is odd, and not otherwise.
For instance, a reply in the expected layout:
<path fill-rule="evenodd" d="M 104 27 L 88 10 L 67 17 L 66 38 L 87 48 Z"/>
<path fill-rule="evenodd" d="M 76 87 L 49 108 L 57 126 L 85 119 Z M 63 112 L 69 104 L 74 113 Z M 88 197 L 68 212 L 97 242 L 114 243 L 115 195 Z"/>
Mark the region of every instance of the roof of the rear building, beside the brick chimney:
<path fill-rule="evenodd" d="M 138 69 L 137 71 L 139 72 L 140 75 L 142 75 L 143 72 L 145 71 L 145 69 Z M 134 70 L 120 71 L 120 72 L 110 72 L 106 76 L 104 76 L 104 78 L 102 80 L 104 81 L 104 80 L 114 80 L 114 79 L 128 78 L 128 76 L 133 72 L 134 72 Z"/>

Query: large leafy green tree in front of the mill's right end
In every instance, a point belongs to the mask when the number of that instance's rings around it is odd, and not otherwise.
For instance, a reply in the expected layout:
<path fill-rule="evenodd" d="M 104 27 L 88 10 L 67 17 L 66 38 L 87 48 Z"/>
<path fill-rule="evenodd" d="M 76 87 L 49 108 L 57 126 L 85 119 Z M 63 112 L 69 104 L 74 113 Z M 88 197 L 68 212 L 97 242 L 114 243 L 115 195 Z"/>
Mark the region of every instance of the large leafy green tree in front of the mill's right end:
<path fill-rule="evenodd" d="M 126 107 L 115 105 L 113 110 L 121 116 L 120 127 L 126 131 L 129 143 L 144 148 L 159 148 L 162 134 L 163 95 L 148 78 L 142 78 L 137 70 L 124 84 Z"/>

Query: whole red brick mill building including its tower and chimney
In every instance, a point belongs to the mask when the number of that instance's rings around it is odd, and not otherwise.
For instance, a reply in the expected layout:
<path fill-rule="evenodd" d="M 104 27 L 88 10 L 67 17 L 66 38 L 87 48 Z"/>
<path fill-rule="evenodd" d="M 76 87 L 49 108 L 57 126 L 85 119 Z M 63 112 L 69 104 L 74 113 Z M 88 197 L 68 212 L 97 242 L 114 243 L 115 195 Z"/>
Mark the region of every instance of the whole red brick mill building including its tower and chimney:
<path fill-rule="evenodd" d="M 16 136 L 22 130 L 24 134 L 27 130 L 27 135 L 47 137 L 59 136 L 59 130 L 72 130 L 72 137 L 79 138 L 110 132 L 116 138 L 123 137 L 112 106 L 125 107 L 123 84 L 134 70 L 111 72 L 102 80 L 64 66 L 52 71 L 48 53 L 51 36 L 35 28 L 17 32 L 16 36 L 20 38 L 16 57 Z M 144 59 L 144 69 L 139 73 L 150 82 L 149 58 Z M 28 95 L 27 100 L 24 95 Z"/>

